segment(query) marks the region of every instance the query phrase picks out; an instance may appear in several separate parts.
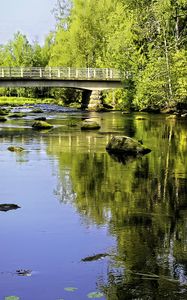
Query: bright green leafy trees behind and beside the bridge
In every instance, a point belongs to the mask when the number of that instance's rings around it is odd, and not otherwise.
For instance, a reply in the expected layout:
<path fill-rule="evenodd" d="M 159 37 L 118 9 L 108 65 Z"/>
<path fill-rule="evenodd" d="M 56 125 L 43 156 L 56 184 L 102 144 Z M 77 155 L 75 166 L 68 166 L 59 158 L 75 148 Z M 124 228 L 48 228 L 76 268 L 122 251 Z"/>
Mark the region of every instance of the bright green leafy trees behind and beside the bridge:
<path fill-rule="evenodd" d="M 117 68 L 132 76 L 106 102 L 121 109 L 187 104 L 187 0 L 58 0 L 54 14 L 56 31 L 44 46 L 17 33 L 0 47 L 0 65 Z M 75 98 L 65 89 L 0 93 Z"/>

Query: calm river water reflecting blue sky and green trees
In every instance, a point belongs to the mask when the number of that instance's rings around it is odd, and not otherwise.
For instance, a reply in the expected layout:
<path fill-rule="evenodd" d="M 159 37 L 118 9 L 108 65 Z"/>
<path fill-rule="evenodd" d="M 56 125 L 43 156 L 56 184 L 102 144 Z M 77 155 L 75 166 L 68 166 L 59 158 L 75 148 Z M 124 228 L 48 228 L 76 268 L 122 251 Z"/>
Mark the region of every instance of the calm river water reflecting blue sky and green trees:
<path fill-rule="evenodd" d="M 32 130 L 31 113 L 0 126 L 0 203 L 21 207 L 0 212 L 0 299 L 186 299 L 186 121 L 44 114 L 55 125 L 47 132 Z M 85 117 L 101 129 L 69 126 Z M 112 134 L 152 152 L 119 162 L 105 151 Z"/>

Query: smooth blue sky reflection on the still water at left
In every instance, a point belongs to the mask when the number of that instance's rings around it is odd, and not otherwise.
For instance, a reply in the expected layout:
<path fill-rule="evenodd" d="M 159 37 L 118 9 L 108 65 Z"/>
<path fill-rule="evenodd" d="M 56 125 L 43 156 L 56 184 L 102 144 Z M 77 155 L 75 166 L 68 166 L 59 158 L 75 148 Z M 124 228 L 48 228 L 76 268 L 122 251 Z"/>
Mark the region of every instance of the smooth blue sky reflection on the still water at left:
<path fill-rule="evenodd" d="M 21 208 L 0 212 L 0 299 L 17 295 L 27 300 L 71 300 L 72 294 L 64 291 L 69 286 L 78 288 L 77 299 L 87 299 L 97 278 L 107 274 L 108 258 L 94 264 L 81 259 L 110 249 L 113 237 L 107 235 L 107 227 L 85 227 L 70 201 L 59 203 L 53 193 L 58 162 L 47 155 L 40 137 L 22 143 L 28 150 L 22 154 L 7 151 L 11 138 L 1 141 L 0 203 Z M 27 160 L 20 163 L 22 156 Z M 64 174 L 64 186 L 71 186 L 68 172 Z M 71 191 L 65 195 L 72 199 Z M 17 269 L 30 269 L 32 276 L 16 276 Z"/>

